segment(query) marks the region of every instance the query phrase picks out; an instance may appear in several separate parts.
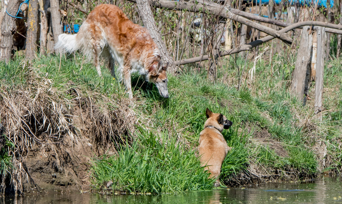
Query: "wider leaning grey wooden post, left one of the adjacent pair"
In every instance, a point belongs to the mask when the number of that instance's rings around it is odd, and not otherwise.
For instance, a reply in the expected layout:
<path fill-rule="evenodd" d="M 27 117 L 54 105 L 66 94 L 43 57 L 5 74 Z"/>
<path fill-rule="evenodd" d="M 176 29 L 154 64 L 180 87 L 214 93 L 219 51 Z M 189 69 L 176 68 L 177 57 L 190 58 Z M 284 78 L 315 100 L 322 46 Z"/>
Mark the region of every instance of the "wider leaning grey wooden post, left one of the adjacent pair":
<path fill-rule="evenodd" d="M 309 35 L 308 29 L 310 26 L 304 26 L 302 29 L 300 47 L 292 76 L 292 94 L 300 101 L 304 96 L 305 76 L 312 48 L 312 34 Z"/>

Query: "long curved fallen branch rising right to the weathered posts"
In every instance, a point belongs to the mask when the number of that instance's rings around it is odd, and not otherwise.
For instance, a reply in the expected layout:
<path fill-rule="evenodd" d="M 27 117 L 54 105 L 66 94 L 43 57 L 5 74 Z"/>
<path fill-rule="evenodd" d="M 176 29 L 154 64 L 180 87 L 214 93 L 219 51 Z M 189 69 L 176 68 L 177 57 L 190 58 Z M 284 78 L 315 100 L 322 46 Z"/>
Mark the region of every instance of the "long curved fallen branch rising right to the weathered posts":
<path fill-rule="evenodd" d="M 299 27 L 302 27 L 305 25 L 322 26 L 322 27 L 331 26 L 331 27 L 334 27 L 337 29 L 339 29 L 339 27 L 342 27 L 341 25 L 337 25 L 337 24 L 330 25 L 330 24 L 332 24 L 332 23 L 325 23 L 325 22 L 320 22 L 320 21 L 303 21 L 303 22 L 298 22 L 298 23 L 294 23 L 290 26 L 287 26 L 287 27 L 281 29 L 279 32 L 280 33 L 287 33 L 287 32 L 289 32 L 295 28 L 299 28 Z M 222 56 L 232 55 L 234 53 L 250 50 L 251 48 L 257 47 L 258 45 L 260 45 L 262 43 L 266 43 L 267 41 L 272 40 L 274 38 L 275 37 L 268 35 L 268 36 L 260 38 L 258 40 L 254 40 L 251 43 L 241 45 L 237 48 L 229 49 L 229 50 L 225 50 L 225 51 L 220 51 L 219 56 L 222 57 Z M 193 62 L 208 60 L 209 58 L 210 58 L 210 55 L 203 55 L 203 56 L 199 56 L 199 57 L 193 57 L 193 58 L 178 60 L 178 61 L 175 61 L 174 63 L 175 63 L 175 65 L 179 66 L 179 65 L 183 65 L 183 64 L 189 64 L 189 63 L 193 63 Z"/>

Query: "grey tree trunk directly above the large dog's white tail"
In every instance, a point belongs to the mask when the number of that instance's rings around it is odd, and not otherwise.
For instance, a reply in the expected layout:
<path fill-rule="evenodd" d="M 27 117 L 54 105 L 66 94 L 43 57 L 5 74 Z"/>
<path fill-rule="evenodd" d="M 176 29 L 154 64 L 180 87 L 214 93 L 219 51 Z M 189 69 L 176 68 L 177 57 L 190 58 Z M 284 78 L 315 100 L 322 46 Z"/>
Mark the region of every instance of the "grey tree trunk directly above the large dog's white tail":
<path fill-rule="evenodd" d="M 50 0 L 53 40 L 57 43 L 58 36 L 62 34 L 60 3 L 58 0 Z M 55 49 L 55 53 L 61 53 L 62 48 Z"/>

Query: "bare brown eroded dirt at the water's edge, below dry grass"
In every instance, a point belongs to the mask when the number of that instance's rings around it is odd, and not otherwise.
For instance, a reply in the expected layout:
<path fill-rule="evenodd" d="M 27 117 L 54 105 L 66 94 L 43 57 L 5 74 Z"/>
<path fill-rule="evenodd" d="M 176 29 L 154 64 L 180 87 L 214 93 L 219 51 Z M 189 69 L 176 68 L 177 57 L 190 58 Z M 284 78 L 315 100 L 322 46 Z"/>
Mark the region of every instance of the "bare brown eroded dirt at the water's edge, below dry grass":
<path fill-rule="evenodd" d="M 92 125 L 89 117 L 82 120 L 82 111 L 75 106 L 73 124 L 78 129 L 77 139 L 65 135 L 62 143 L 36 146 L 24 163 L 31 181 L 27 188 L 47 190 L 90 190 L 90 163 L 94 155 Z M 83 112 L 86 115 L 86 112 Z M 30 186 L 32 185 L 32 186 Z"/>

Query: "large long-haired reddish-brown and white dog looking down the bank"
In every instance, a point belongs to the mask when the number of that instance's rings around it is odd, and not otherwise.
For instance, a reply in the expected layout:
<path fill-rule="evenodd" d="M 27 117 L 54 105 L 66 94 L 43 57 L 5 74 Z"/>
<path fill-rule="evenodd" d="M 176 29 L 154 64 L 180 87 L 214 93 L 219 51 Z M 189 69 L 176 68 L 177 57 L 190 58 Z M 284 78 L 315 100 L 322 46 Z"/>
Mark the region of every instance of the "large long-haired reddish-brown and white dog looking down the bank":
<path fill-rule="evenodd" d="M 115 5 L 101 4 L 95 7 L 75 35 L 58 36 L 56 48 L 66 52 L 81 49 L 93 59 L 99 76 L 100 56 L 109 61 L 113 76 L 114 63 L 118 62 L 118 79 L 123 78 L 129 98 L 133 98 L 131 73 L 139 72 L 145 80 L 156 84 L 159 94 L 169 97 L 167 64 L 162 65 L 160 51 L 146 28 L 134 24 Z"/>

